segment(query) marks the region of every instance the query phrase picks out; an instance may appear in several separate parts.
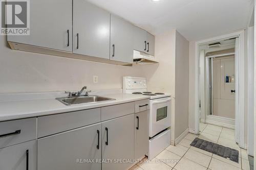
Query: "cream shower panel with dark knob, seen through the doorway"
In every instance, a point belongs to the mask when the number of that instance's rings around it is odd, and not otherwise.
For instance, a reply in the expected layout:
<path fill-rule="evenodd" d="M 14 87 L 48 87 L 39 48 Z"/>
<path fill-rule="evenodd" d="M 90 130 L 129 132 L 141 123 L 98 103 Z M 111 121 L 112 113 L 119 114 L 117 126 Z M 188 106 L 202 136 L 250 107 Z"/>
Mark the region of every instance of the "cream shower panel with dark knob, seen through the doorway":
<path fill-rule="evenodd" d="M 217 57 L 212 67 L 213 115 L 234 119 L 234 56 Z"/>

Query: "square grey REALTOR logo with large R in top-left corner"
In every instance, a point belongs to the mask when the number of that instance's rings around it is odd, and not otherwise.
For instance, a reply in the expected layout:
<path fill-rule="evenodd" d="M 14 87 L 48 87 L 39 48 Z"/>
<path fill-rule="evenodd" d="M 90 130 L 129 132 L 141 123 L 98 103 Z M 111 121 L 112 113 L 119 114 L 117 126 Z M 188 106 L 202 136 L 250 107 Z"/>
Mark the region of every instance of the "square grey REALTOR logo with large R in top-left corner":
<path fill-rule="evenodd" d="M 29 0 L 1 1 L 1 35 L 29 35 Z"/>

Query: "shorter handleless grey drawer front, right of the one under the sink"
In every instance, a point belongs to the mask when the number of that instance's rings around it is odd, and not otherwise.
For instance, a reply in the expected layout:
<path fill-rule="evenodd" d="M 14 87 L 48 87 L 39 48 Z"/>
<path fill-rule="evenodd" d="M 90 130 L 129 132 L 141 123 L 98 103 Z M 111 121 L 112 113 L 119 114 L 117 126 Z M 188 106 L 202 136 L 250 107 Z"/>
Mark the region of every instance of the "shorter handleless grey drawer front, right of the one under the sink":
<path fill-rule="evenodd" d="M 101 108 L 101 121 L 134 113 L 134 102 Z"/>

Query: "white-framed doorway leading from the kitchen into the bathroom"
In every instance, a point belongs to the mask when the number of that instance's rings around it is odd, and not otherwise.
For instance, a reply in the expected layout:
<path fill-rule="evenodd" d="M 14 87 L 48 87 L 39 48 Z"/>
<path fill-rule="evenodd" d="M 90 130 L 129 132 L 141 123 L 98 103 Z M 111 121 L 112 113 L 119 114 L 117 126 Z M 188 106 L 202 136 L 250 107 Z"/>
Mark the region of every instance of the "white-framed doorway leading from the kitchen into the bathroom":
<path fill-rule="evenodd" d="M 244 31 L 196 42 L 196 61 L 195 134 L 206 125 L 233 130 L 245 148 Z"/>

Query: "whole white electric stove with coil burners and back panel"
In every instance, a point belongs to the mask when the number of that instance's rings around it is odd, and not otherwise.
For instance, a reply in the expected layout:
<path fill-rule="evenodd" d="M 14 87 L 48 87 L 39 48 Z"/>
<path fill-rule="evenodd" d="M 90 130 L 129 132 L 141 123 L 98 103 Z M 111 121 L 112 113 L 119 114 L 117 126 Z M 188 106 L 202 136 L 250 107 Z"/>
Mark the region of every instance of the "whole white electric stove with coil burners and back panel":
<path fill-rule="evenodd" d="M 148 159 L 153 159 L 170 144 L 170 94 L 147 91 L 146 78 L 139 77 L 123 77 L 123 93 L 150 96 Z"/>

